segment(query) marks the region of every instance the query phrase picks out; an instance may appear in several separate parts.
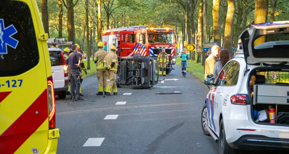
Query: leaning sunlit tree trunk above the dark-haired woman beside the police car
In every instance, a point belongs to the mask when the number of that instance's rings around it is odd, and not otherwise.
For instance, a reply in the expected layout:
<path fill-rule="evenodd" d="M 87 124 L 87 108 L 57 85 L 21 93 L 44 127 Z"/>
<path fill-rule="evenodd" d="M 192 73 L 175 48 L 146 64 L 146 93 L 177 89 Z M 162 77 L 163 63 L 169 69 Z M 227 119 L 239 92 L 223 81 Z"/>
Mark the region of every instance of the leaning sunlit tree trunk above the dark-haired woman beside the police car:
<path fill-rule="evenodd" d="M 228 0 L 228 11 L 226 16 L 226 25 L 225 25 L 225 44 L 224 48 L 228 49 L 231 53 L 233 46 L 233 38 L 232 38 L 232 27 L 234 22 L 234 14 L 235 14 L 235 0 Z"/>

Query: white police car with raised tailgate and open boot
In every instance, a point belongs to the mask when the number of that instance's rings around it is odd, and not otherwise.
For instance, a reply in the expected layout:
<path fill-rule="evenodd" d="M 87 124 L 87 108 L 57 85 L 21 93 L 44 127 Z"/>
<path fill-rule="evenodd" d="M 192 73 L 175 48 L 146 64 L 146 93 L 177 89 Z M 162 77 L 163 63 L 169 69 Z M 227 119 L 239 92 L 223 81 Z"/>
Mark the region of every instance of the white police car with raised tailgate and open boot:
<path fill-rule="evenodd" d="M 214 87 L 201 127 L 220 153 L 289 150 L 288 34 L 289 21 L 251 25 L 240 36 L 244 57 L 231 59 L 216 80 L 205 79 Z"/>

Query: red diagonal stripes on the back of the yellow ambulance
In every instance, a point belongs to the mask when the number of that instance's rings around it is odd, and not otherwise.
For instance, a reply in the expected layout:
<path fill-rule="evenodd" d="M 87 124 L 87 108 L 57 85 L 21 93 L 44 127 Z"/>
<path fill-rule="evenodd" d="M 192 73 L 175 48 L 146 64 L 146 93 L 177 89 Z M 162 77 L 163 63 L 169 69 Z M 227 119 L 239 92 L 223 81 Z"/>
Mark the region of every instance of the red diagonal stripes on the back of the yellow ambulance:
<path fill-rule="evenodd" d="M 11 91 L 1 92 L 0 102 L 10 93 Z M 14 153 L 48 118 L 48 106 L 43 105 L 47 99 L 47 89 L 45 89 L 21 116 L 1 134 L 1 153 Z"/>

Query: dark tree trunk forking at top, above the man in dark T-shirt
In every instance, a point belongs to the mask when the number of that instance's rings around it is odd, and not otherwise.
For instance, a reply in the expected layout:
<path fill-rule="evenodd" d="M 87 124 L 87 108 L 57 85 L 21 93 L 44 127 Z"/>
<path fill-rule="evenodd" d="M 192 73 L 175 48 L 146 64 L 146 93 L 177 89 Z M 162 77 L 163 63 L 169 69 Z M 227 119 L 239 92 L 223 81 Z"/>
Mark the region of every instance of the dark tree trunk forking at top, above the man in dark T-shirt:
<path fill-rule="evenodd" d="M 77 4 L 78 0 L 73 3 L 73 0 L 62 0 L 64 6 L 67 9 L 67 34 L 68 34 L 68 41 L 72 41 L 75 44 L 75 28 L 74 28 L 74 7 Z M 67 4 L 67 5 L 66 5 Z"/>

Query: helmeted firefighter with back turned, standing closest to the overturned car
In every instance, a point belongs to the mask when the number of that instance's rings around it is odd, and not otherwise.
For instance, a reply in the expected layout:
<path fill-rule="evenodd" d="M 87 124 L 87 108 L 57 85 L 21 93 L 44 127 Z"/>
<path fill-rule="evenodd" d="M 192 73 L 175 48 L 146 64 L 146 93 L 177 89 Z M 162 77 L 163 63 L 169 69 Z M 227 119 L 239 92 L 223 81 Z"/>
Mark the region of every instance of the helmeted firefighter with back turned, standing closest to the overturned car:
<path fill-rule="evenodd" d="M 116 47 L 112 45 L 110 47 L 110 53 L 107 54 L 104 58 L 104 67 L 105 70 L 108 70 L 109 82 L 108 85 L 104 88 L 107 96 L 110 96 L 112 90 L 113 95 L 117 95 L 117 87 L 115 83 L 116 72 L 117 72 L 117 55 L 115 54 Z"/>

